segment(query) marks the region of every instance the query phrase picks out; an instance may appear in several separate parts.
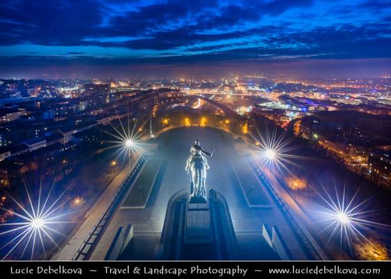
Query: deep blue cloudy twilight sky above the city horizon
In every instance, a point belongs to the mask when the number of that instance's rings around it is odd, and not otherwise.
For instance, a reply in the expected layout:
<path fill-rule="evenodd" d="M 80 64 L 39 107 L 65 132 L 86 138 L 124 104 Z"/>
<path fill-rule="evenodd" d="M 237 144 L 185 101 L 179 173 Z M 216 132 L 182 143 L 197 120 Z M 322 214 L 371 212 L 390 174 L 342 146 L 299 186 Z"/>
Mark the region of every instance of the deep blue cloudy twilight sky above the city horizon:
<path fill-rule="evenodd" d="M 391 74 L 390 0 L 3 0 L 0 77 Z"/>

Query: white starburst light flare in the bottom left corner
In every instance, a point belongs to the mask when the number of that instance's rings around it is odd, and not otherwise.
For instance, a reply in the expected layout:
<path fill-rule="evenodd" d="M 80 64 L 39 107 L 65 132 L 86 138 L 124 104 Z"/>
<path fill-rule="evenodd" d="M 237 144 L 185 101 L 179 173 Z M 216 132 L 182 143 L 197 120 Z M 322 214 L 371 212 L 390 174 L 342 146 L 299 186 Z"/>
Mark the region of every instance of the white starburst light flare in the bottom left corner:
<path fill-rule="evenodd" d="M 0 224 L 0 238 L 5 242 L 0 247 L 1 255 L 3 259 L 7 259 L 12 255 L 20 259 L 32 260 L 40 259 L 43 254 L 47 259 L 47 246 L 54 245 L 59 248 L 56 238 L 59 236 L 66 237 L 57 230 L 59 224 L 71 223 L 66 221 L 65 216 L 72 212 L 66 211 L 64 213 L 61 211 L 68 202 L 68 199 L 65 199 L 68 188 L 56 199 L 51 197 L 54 192 L 54 184 L 47 195 L 43 195 L 42 185 L 40 185 L 37 199 L 31 197 L 25 183 L 24 188 L 26 190 L 26 206 L 23 206 L 22 202 L 17 201 L 15 197 L 7 193 L 15 203 L 15 209 L 0 207 L 2 211 L 10 213 L 10 216 L 15 218 L 13 222 Z"/>

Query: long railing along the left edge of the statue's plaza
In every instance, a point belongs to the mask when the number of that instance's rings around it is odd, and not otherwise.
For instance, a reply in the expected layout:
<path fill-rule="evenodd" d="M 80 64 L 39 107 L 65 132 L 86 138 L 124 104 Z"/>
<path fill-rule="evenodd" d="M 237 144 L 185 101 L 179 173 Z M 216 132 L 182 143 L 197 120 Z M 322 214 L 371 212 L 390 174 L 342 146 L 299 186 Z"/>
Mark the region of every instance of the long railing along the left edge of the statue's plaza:
<path fill-rule="evenodd" d="M 135 181 L 137 174 L 139 174 L 141 167 L 144 165 L 145 162 L 146 158 L 144 158 L 144 156 L 141 156 L 139 160 L 137 160 L 137 163 L 135 164 L 135 167 L 133 167 L 132 172 L 118 188 L 116 194 L 114 195 L 112 201 L 109 204 L 109 207 L 99 218 L 98 223 L 96 223 L 93 229 L 91 229 L 91 232 L 86 237 L 79 250 L 77 250 L 72 260 L 80 261 L 89 259 L 89 257 L 91 257 L 93 250 L 95 249 L 96 245 L 100 240 L 100 237 L 102 236 L 102 232 L 104 232 L 107 223 L 112 218 L 112 214 L 116 210 L 118 204 L 121 202 L 124 193 L 126 193 L 130 186 L 132 186 L 132 183 Z"/>

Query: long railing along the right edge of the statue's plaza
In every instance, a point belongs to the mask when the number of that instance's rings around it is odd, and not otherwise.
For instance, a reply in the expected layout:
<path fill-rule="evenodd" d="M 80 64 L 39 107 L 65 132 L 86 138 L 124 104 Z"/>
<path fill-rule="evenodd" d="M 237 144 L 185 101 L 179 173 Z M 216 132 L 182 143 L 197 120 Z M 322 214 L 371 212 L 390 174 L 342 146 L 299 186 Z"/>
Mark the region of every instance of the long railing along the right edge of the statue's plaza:
<path fill-rule="evenodd" d="M 314 246 L 312 246 L 311 241 L 309 241 L 307 239 L 307 236 L 305 236 L 305 234 L 302 232 L 300 225 L 298 225 L 298 223 L 296 222 L 295 218 L 293 217 L 293 214 L 291 213 L 291 209 L 286 204 L 284 199 L 282 199 L 282 197 L 280 197 L 279 194 L 275 191 L 273 186 L 270 184 L 268 178 L 265 176 L 265 174 L 263 174 L 263 172 L 256 165 L 256 163 L 251 162 L 251 165 L 254 168 L 259 179 L 261 179 L 263 184 L 266 186 L 266 190 L 268 190 L 268 192 L 271 194 L 279 208 L 282 209 L 282 213 L 284 214 L 286 220 L 288 220 L 289 225 L 291 225 L 293 232 L 295 232 L 295 234 L 298 236 L 299 242 L 302 244 L 302 246 L 307 248 L 307 255 L 313 257 L 314 259 L 322 259 Z"/>

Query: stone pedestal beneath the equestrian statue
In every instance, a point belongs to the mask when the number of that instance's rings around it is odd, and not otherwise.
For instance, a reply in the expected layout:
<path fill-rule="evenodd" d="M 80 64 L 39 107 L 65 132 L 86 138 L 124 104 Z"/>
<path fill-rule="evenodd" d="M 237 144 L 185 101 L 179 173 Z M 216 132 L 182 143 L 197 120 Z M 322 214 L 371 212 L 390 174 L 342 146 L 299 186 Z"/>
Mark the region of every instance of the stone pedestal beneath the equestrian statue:
<path fill-rule="evenodd" d="M 212 243 L 212 224 L 207 202 L 186 204 L 185 243 Z"/>

